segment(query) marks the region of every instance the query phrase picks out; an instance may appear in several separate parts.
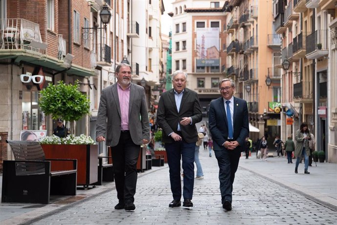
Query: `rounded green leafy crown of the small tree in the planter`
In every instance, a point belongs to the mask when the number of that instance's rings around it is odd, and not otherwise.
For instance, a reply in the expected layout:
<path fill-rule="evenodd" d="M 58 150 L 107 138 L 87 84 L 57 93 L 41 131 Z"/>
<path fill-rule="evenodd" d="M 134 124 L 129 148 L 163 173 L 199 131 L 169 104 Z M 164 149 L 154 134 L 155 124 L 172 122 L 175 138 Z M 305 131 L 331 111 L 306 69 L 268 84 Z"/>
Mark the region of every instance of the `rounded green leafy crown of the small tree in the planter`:
<path fill-rule="evenodd" d="M 90 101 L 87 96 L 78 90 L 78 81 L 75 84 L 64 84 L 59 81 L 57 85 L 49 84 L 41 90 L 39 105 L 46 115 L 53 119 L 62 118 L 73 122 L 84 115 L 90 115 Z M 66 124 L 65 124 L 66 127 Z"/>

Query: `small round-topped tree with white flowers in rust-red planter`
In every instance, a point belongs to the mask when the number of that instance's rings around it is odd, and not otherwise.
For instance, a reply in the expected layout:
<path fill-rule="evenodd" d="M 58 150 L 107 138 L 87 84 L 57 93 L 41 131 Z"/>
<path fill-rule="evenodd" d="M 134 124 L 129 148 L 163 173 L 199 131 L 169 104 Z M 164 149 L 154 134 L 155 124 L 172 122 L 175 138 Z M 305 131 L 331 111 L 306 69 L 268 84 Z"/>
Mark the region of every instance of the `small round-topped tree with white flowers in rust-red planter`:
<path fill-rule="evenodd" d="M 57 85 L 49 84 L 41 91 L 39 105 L 45 115 L 53 119 L 61 118 L 70 122 L 71 133 L 74 134 L 74 121 L 85 115 L 90 115 L 90 101 L 85 94 L 78 90 L 79 82 Z M 77 185 L 84 185 L 98 181 L 98 145 L 86 135 L 68 135 L 59 138 L 55 135 L 41 140 L 41 146 L 46 158 L 73 158 L 77 159 Z M 64 170 L 58 164 L 52 165 L 52 170 Z"/>

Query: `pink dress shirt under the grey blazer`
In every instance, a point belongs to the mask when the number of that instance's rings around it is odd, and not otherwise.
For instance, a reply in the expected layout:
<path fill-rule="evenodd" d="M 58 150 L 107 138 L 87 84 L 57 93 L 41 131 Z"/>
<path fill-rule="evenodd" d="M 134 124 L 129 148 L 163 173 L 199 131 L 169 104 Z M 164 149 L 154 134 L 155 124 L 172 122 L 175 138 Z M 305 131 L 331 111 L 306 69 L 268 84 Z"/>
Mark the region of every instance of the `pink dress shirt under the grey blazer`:
<path fill-rule="evenodd" d="M 130 102 L 130 86 L 123 90 L 120 84 L 117 83 L 117 91 L 119 98 L 119 106 L 121 108 L 121 130 L 129 130 L 129 102 Z"/>

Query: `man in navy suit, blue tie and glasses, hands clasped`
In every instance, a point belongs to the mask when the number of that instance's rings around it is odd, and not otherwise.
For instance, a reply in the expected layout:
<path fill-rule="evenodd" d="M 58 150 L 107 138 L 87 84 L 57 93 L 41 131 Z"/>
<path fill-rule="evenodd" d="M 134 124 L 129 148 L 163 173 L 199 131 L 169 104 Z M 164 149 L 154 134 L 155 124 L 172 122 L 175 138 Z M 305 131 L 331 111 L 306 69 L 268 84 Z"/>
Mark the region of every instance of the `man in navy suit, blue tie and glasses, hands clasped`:
<path fill-rule="evenodd" d="M 219 83 L 221 97 L 211 101 L 209 111 L 213 149 L 219 165 L 221 203 L 228 211 L 232 210 L 235 172 L 249 134 L 247 102 L 233 96 L 234 85 L 232 79 Z"/>

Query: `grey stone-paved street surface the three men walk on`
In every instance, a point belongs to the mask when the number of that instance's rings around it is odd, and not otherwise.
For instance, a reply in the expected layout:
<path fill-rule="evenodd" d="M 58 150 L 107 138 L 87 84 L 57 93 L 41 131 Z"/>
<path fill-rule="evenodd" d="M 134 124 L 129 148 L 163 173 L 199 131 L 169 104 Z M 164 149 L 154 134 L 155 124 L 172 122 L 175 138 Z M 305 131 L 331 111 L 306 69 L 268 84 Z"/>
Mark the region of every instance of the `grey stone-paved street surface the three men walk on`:
<path fill-rule="evenodd" d="M 202 149 L 202 148 L 201 148 Z M 337 224 L 336 164 L 319 163 L 304 175 L 304 163 L 299 174 L 295 164 L 285 158 L 268 158 L 268 161 L 251 157 L 240 158 L 233 189 L 233 209 L 225 211 L 221 205 L 218 166 L 214 155 L 200 150 L 200 160 L 205 179 L 195 180 L 192 209 L 169 208 L 172 195 L 169 185 L 168 165 L 155 171 L 140 173 L 135 195 L 135 212 L 115 210 L 116 190 L 105 187 L 97 193 L 55 210 L 34 217 L 34 211 L 21 214 L 1 224 L 125 224 L 125 225 L 185 225 L 185 224 Z M 303 170 L 303 171 L 302 171 Z M 327 174 L 326 174 L 327 173 Z M 320 184 L 322 183 L 322 184 Z M 107 185 L 108 186 L 108 185 Z M 89 193 L 89 192 L 87 192 Z M 2 205 L 2 204 L 1 204 Z M 53 204 L 45 207 L 53 207 Z M 55 205 L 55 203 L 54 203 Z M 55 207 L 55 206 L 54 206 Z M 1 208 L 2 210 L 2 208 Z M 45 210 L 48 211 L 48 210 Z M 38 215 L 39 213 L 36 213 Z M 19 218 L 25 218 L 20 221 Z M 13 221 L 15 220 L 15 221 Z M 16 223 L 15 223 L 16 222 Z"/>

